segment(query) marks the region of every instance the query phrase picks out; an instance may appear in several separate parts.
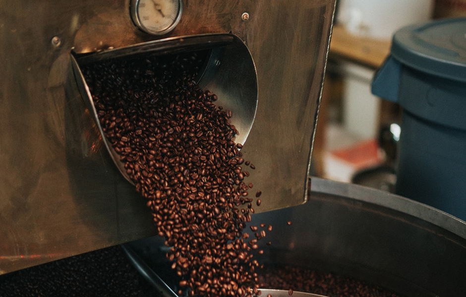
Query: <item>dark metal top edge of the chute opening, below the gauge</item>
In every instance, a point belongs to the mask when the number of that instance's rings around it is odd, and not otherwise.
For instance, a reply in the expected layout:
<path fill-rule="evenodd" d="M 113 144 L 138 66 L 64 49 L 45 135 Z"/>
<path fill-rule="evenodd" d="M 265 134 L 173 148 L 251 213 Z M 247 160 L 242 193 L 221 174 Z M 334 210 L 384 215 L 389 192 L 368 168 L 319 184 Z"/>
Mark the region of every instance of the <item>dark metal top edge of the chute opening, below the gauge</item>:
<path fill-rule="evenodd" d="M 83 56 L 78 56 L 77 59 L 79 60 L 80 64 L 86 64 L 104 59 L 133 55 L 137 53 L 173 53 L 176 51 L 188 50 L 194 47 L 195 49 L 202 49 L 201 46 L 203 46 L 204 49 L 209 49 L 229 45 L 232 42 L 233 34 L 189 35 L 153 40 L 123 48 L 109 49 L 94 53 L 86 53 Z M 74 52 L 74 54 L 80 55 L 82 53 Z"/>

